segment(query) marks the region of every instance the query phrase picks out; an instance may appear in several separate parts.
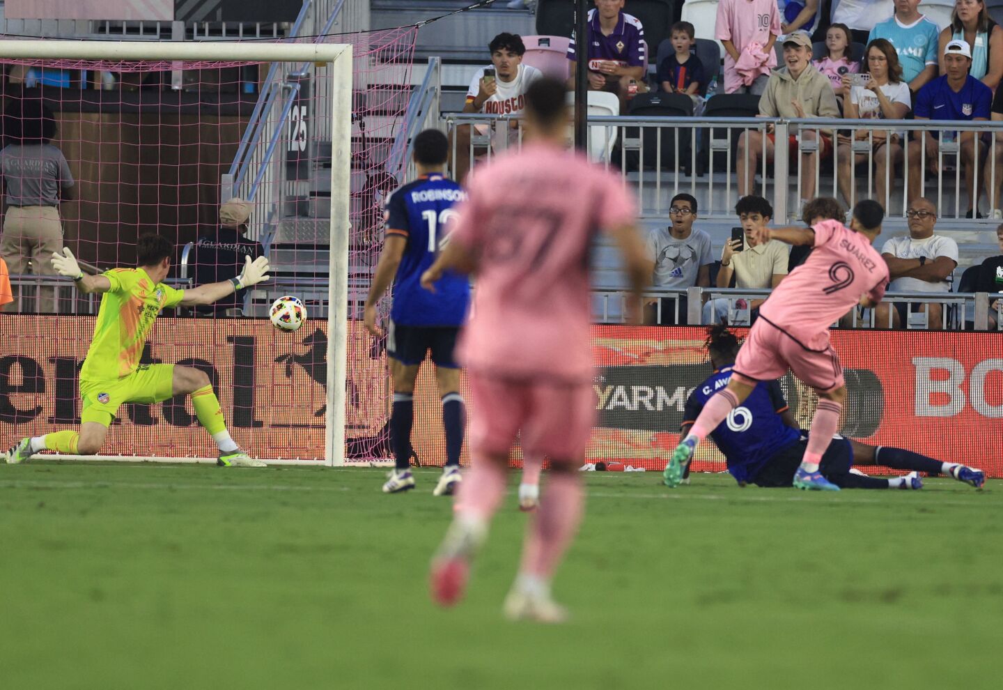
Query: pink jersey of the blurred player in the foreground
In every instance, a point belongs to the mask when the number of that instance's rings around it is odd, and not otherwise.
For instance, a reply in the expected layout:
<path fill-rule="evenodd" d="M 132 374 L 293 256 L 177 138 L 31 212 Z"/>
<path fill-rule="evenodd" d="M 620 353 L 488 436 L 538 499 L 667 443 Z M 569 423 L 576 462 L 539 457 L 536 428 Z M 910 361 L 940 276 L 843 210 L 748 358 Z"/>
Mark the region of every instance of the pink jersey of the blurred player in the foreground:
<path fill-rule="evenodd" d="M 449 242 L 478 262 L 459 362 L 498 377 L 589 380 L 592 240 L 636 217 L 620 179 L 531 143 L 477 169 L 456 212 Z"/>

